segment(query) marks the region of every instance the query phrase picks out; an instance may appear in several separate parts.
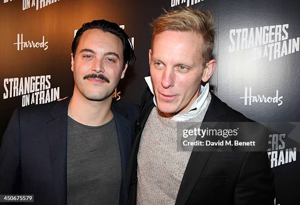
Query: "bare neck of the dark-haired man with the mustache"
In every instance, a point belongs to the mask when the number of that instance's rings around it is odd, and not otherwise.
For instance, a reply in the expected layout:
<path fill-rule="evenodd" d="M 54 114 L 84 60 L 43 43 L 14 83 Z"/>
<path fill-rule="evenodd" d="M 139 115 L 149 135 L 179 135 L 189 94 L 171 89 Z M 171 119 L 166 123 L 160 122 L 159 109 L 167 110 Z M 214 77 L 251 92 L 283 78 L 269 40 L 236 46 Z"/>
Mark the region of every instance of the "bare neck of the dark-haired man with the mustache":
<path fill-rule="evenodd" d="M 69 103 L 68 116 L 81 124 L 100 126 L 113 118 L 111 102 L 112 96 L 102 101 L 92 101 L 74 92 Z"/>

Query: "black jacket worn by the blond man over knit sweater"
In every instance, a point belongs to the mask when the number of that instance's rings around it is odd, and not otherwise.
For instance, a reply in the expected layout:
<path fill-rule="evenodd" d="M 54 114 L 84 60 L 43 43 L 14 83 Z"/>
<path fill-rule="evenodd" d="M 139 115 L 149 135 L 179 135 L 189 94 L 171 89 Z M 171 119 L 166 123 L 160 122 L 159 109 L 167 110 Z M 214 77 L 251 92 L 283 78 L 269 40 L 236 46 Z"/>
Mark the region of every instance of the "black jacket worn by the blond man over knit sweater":
<path fill-rule="evenodd" d="M 128 164 L 131 188 L 127 205 L 136 204 L 137 153 L 142 131 L 154 107 L 150 90 L 144 92 L 141 116 L 136 123 L 137 136 Z M 231 109 L 211 93 L 211 102 L 203 122 L 253 122 Z M 248 129 L 268 139 L 268 130 L 256 123 Z M 251 130 L 250 130 L 251 129 Z M 194 147 L 195 148 L 195 147 Z M 182 178 L 175 205 L 274 205 L 274 174 L 267 152 L 193 151 Z"/>

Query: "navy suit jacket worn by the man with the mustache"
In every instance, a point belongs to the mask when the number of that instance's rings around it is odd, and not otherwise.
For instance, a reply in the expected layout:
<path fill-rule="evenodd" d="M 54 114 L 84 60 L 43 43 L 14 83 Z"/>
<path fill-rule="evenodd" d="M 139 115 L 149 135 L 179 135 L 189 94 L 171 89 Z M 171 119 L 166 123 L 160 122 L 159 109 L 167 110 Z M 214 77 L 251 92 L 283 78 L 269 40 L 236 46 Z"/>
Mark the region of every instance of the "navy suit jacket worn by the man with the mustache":
<path fill-rule="evenodd" d="M 0 194 L 33 194 L 36 205 L 67 204 L 69 101 L 70 98 L 15 110 L 0 148 Z M 117 102 L 111 110 L 120 146 L 120 205 L 124 205 L 129 192 L 127 163 L 139 108 Z"/>

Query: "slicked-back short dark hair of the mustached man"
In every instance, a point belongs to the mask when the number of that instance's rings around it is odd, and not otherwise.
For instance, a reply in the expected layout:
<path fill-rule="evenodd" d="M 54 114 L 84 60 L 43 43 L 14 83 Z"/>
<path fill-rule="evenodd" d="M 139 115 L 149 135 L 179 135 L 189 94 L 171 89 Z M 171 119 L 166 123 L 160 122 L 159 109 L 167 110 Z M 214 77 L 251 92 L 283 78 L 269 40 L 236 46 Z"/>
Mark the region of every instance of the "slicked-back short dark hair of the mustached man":
<path fill-rule="evenodd" d="M 75 58 L 77 46 L 79 44 L 79 40 L 82 34 L 84 33 L 84 31 L 88 29 L 100 29 L 104 32 L 110 32 L 118 36 L 123 43 L 123 56 L 124 56 L 123 67 L 125 67 L 126 63 L 128 63 L 128 67 L 129 67 L 135 62 L 136 57 L 134 56 L 133 46 L 128 35 L 125 33 L 123 29 L 121 29 L 118 26 L 118 24 L 106 21 L 104 19 L 94 20 L 92 22 L 85 23 L 82 25 L 80 29 L 77 30 L 75 38 L 72 42 L 72 53 L 74 58 Z"/>

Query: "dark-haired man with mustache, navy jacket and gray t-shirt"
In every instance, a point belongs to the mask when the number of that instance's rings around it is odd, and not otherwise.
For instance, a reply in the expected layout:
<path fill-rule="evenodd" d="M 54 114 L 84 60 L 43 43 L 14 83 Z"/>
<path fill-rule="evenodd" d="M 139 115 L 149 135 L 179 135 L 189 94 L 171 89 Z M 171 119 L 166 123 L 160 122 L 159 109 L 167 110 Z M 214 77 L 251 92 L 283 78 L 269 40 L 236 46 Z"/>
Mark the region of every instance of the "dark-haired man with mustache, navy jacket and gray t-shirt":
<path fill-rule="evenodd" d="M 123 29 L 95 20 L 72 43 L 71 98 L 16 109 L 0 149 L 0 194 L 33 194 L 36 205 L 124 205 L 138 106 L 112 103 L 135 61 Z"/>

